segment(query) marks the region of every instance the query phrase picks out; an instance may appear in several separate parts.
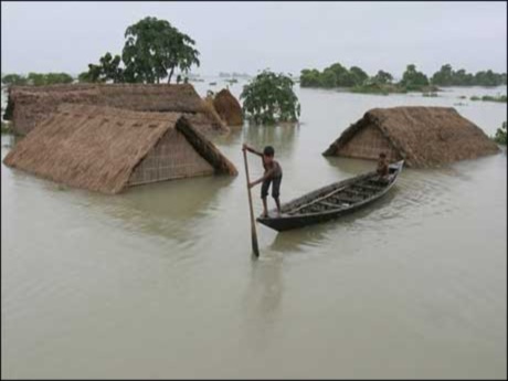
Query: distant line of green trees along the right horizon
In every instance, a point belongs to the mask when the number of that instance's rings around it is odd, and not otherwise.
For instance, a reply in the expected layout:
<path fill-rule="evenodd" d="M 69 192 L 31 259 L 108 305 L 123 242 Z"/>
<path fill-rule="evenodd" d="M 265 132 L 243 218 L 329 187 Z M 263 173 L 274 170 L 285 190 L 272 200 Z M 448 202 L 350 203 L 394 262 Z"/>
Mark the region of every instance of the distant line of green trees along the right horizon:
<path fill-rule="evenodd" d="M 340 63 L 326 67 L 322 72 L 316 68 L 304 68 L 300 73 L 301 87 L 346 87 L 358 93 L 405 93 L 412 91 L 435 91 L 436 86 L 499 86 L 506 85 L 506 73 L 491 70 L 467 73 L 464 68 L 454 71 L 446 64 L 428 78 L 419 72 L 414 64 L 408 65 L 402 80 L 393 82 L 393 75 L 380 70 L 370 76 L 362 68 L 352 66 L 349 70 Z"/>

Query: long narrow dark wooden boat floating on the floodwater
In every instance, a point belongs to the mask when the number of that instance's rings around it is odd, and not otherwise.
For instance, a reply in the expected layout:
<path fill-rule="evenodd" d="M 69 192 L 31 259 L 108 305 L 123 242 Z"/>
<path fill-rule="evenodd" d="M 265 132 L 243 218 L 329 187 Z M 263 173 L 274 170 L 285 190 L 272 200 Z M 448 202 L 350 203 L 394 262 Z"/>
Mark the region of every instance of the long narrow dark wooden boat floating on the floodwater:
<path fill-rule="evenodd" d="M 395 183 L 404 160 L 391 163 L 389 174 L 381 179 L 375 171 L 335 182 L 268 211 L 268 218 L 257 221 L 278 232 L 337 219 L 353 212 L 382 195 Z"/>

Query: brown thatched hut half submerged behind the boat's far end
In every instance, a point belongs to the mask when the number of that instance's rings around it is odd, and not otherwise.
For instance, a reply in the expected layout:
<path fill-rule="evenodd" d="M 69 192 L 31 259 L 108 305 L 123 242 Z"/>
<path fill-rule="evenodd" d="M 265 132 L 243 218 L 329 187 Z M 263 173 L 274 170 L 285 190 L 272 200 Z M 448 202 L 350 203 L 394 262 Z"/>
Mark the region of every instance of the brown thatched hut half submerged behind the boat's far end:
<path fill-rule="evenodd" d="M 499 148 L 475 124 L 454 108 L 374 108 L 349 126 L 322 154 L 390 161 L 409 167 L 433 167 L 498 152 Z"/>

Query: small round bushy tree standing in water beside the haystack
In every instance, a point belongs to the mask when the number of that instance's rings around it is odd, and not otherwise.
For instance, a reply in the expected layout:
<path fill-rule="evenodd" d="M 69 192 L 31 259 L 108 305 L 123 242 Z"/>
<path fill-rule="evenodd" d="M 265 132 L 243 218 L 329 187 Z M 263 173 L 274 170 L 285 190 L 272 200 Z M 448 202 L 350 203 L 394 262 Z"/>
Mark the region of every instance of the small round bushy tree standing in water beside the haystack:
<path fill-rule="evenodd" d="M 300 115 L 300 105 L 293 85 L 293 80 L 287 75 L 263 71 L 243 87 L 240 97 L 244 99 L 244 113 L 256 124 L 296 121 Z"/>

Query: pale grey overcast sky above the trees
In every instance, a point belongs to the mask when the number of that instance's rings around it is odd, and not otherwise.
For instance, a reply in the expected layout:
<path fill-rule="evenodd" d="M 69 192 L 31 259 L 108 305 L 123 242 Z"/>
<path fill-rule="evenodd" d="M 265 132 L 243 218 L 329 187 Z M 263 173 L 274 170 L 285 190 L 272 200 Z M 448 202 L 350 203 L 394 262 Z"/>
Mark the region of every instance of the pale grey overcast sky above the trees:
<path fill-rule="evenodd" d="M 125 29 L 150 15 L 197 41 L 215 74 L 299 73 L 340 62 L 400 76 L 444 63 L 506 72 L 506 2 L 3 2 L 2 73 L 80 73 L 120 53 Z"/>

